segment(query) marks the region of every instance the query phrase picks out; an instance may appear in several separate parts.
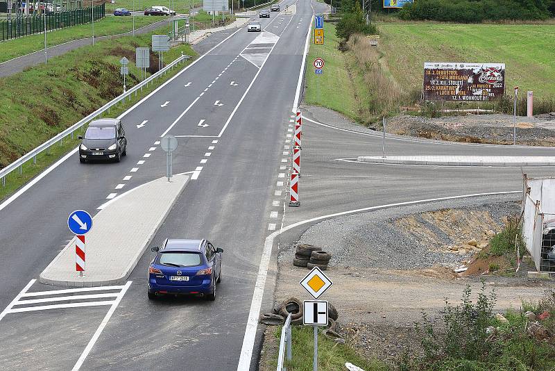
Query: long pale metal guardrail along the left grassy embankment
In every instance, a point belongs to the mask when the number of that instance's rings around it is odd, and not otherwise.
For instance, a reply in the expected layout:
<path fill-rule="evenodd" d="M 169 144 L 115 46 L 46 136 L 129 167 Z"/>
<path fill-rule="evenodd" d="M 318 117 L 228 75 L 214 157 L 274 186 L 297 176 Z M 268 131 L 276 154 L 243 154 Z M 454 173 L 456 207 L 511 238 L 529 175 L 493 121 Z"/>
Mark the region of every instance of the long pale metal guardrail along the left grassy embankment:
<path fill-rule="evenodd" d="M 2 170 L 0 170 L 0 179 L 2 179 L 2 186 L 6 186 L 6 176 L 10 174 L 10 172 L 17 169 L 19 170 L 19 175 L 21 175 L 23 172 L 22 166 L 24 165 L 24 163 L 26 163 L 27 161 L 30 161 L 31 159 L 33 160 L 33 163 L 37 163 L 37 155 L 40 154 L 42 151 L 49 150 L 50 147 L 52 147 L 58 142 L 60 142 L 61 144 L 62 140 L 66 138 L 68 135 L 71 135 L 71 138 L 74 138 L 74 132 L 77 129 L 82 128 L 85 124 L 88 124 L 89 122 L 91 122 L 93 119 L 96 119 L 97 117 L 102 117 L 102 114 L 105 111 L 110 112 L 110 108 L 112 108 L 113 106 L 119 103 L 125 102 L 125 100 L 128 97 L 129 97 L 129 100 L 131 100 L 131 94 L 135 93 L 135 97 L 137 97 L 137 91 L 139 90 L 142 91 L 145 86 L 148 86 L 148 83 L 153 83 L 155 79 L 158 79 L 160 76 L 165 75 L 166 72 L 169 71 L 169 69 L 172 69 L 176 65 L 182 63 L 184 60 L 187 60 L 189 58 L 191 58 L 191 56 L 184 56 L 183 53 L 181 53 L 180 57 L 176 58 L 176 60 L 173 60 L 173 62 L 169 63 L 169 65 L 167 65 L 166 67 L 160 69 L 160 71 L 156 72 L 151 76 L 148 76 L 148 78 L 144 79 L 144 81 L 141 81 L 141 83 L 133 86 L 133 88 L 130 88 L 129 90 L 119 95 L 118 97 L 115 97 L 107 104 L 99 108 L 98 110 L 95 110 L 87 117 L 81 119 L 76 124 L 69 126 L 69 128 L 65 129 L 65 131 L 62 131 L 54 138 L 47 140 L 46 142 L 42 143 L 42 145 L 40 145 L 39 147 L 33 149 L 32 151 L 29 151 L 21 158 L 15 160 L 13 163 L 10 163 L 10 165 L 4 167 Z"/>

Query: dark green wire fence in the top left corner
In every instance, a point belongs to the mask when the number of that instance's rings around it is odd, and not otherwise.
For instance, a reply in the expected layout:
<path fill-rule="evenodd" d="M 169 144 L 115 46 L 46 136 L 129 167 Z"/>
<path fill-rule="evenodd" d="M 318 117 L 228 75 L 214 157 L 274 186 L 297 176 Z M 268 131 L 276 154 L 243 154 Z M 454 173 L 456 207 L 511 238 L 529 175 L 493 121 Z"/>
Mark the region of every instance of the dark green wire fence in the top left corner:
<path fill-rule="evenodd" d="M 89 8 L 65 10 L 64 12 L 46 13 L 42 15 L 19 15 L 10 20 L 0 21 L 0 41 L 22 38 L 35 33 L 56 30 L 86 24 L 92 17 L 97 21 L 105 17 L 105 4 Z"/>

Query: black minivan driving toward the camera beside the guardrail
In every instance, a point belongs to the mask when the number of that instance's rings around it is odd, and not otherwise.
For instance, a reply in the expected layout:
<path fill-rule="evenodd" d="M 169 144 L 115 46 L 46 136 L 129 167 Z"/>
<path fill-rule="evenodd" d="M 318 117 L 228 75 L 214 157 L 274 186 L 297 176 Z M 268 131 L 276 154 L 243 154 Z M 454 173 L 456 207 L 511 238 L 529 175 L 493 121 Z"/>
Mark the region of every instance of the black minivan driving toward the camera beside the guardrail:
<path fill-rule="evenodd" d="M 79 161 L 114 160 L 119 163 L 127 154 L 126 131 L 121 119 L 96 119 L 89 124 L 85 136 L 79 135 Z"/>

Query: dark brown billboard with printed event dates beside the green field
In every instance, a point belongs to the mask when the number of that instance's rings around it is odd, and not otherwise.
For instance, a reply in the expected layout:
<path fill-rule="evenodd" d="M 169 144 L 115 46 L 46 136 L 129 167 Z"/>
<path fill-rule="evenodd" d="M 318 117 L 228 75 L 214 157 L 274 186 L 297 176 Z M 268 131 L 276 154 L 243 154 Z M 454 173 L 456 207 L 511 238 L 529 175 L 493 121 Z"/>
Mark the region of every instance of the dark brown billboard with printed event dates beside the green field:
<path fill-rule="evenodd" d="M 491 101 L 505 92 L 504 63 L 424 63 L 424 99 Z"/>

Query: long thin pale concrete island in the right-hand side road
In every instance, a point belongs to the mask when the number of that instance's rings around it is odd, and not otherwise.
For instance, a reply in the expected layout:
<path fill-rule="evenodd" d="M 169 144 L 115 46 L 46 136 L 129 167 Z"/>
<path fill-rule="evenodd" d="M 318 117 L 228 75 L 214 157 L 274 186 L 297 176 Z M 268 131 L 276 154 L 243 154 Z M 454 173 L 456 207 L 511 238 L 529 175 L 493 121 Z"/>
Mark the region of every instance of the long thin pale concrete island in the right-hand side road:
<path fill-rule="evenodd" d="M 555 166 L 555 156 L 359 156 L 362 163 L 440 166 Z"/>

